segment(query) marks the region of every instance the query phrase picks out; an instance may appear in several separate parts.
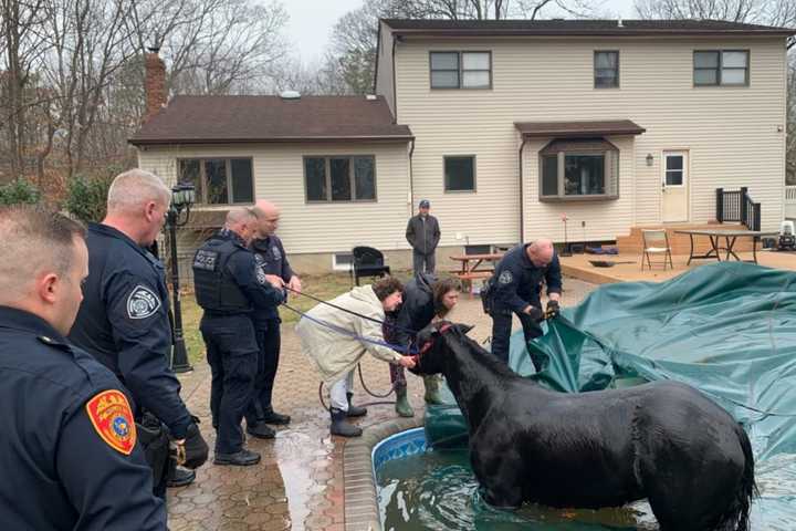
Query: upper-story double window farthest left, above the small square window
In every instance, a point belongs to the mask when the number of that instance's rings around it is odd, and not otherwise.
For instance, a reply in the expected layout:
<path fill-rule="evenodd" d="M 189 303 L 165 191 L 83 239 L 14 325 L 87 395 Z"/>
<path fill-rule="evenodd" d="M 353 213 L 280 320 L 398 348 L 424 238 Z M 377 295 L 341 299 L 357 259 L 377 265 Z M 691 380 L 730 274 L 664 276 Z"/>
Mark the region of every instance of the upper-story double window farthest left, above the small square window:
<path fill-rule="evenodd" d="M 431 52 L 431 88 L 491 88 L 492 52 Z"/>

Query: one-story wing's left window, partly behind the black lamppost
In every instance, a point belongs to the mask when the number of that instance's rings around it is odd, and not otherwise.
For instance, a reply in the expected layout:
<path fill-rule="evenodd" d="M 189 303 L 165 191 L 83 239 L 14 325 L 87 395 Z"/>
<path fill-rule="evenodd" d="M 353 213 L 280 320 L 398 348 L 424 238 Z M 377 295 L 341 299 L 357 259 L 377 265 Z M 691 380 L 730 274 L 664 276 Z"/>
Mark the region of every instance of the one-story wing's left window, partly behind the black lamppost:
<path fill-rule="evenodd" d="M 200 205 L 237 205 L 254 201 L 251 158 L 184 158 L 177 162 L 180 183 L 196 187 Z"/>

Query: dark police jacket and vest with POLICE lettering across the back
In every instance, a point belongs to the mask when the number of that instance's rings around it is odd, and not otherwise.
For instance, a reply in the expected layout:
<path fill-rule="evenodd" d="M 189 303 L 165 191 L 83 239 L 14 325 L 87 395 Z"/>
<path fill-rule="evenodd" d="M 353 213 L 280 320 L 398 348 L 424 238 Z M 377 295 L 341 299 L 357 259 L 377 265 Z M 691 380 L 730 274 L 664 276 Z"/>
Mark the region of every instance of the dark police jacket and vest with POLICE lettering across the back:
<path fill-rule="evenodd" d="M 285 298 L 265 280 L 254 253 L 229 229 L 221 229 L 197 250 L 193 287 L 199 305 L 219 315 L 268 314 Z"/>

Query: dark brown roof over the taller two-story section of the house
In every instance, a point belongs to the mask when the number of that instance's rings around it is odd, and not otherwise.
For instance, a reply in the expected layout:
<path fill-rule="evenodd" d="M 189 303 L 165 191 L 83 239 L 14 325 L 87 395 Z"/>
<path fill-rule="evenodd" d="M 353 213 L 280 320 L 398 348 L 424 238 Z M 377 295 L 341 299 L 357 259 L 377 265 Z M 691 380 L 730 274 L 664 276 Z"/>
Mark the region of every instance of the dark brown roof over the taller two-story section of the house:
<path fill-rule="evenodd" d="M 420 35 L 782 35 L 789 28 L 723 20 L 419 20 L 383 19 L 397 34 Z"/>

